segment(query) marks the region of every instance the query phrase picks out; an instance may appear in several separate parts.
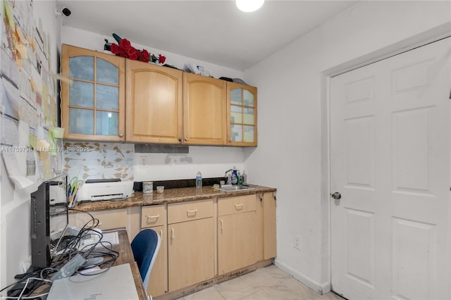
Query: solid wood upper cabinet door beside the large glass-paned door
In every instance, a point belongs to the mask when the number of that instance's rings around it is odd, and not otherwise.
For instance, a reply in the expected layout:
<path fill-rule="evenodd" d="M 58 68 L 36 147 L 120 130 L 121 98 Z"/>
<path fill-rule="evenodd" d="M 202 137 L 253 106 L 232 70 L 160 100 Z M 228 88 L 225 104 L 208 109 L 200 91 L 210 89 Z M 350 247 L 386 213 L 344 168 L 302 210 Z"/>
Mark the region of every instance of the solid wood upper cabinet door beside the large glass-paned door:
<path fill-rule="evenodd" d="M 183 72 L 128 59 L 126 75 L 127 142 L 182 142 Z"/>

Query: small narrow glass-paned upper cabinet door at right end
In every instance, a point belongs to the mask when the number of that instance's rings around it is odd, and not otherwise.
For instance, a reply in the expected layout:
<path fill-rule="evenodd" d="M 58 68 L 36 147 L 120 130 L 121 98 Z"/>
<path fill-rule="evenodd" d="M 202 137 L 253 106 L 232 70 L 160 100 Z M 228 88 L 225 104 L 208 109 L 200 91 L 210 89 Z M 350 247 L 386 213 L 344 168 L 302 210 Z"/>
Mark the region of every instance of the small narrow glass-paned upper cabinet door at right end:
<path fill-rule="evenodd" d="M 228 82 L 228 144 L 257 146 L 257 88 Z"/>

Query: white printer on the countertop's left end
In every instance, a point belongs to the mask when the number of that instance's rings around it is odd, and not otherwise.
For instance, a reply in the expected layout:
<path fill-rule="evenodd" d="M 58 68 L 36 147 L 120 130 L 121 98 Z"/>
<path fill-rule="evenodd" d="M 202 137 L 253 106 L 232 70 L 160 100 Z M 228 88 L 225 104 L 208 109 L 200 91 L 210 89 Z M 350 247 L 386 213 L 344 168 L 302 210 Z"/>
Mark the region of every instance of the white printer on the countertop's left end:
<path fill-rule="evenodd" d="M 77 201 L 125 200 L 132 194 L 131 180 L 86 180 L 78 189 Z"/>

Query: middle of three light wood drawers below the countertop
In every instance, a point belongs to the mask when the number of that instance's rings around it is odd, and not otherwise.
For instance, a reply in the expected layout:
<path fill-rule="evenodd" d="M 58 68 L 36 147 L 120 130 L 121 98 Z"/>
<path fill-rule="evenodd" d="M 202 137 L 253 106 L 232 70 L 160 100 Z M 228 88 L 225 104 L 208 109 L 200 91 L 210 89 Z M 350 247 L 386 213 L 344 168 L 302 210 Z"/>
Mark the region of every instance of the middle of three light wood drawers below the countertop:
<path fill-rule="evenodd" d="M 168 224 L 213 217 L 213 199 L 168 204 Z"/>

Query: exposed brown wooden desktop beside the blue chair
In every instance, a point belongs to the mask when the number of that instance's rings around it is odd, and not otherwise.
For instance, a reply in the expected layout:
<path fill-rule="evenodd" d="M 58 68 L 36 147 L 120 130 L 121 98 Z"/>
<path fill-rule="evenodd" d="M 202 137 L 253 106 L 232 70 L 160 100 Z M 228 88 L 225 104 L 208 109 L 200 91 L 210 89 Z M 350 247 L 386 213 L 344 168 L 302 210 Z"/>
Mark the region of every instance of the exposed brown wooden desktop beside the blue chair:
<path fill-rule="evenodd" d="M 119 257 L 113 265 L 122 265 L 123 263 L 130 263 L 132 269 L 133 279 L 135 280 L 136 291 L 142 300 L 147 300 L 147 294 L 142 285 L 140 269 L 138 268 L 135 257 L 133 256 L 132 247 L 128 239 L 127 230 L 119 228 L 116 230 L 103 230 L 102 232 L 118 232 L 119 244 L 113 244 L 113 250 L 119 252 Z"/>

